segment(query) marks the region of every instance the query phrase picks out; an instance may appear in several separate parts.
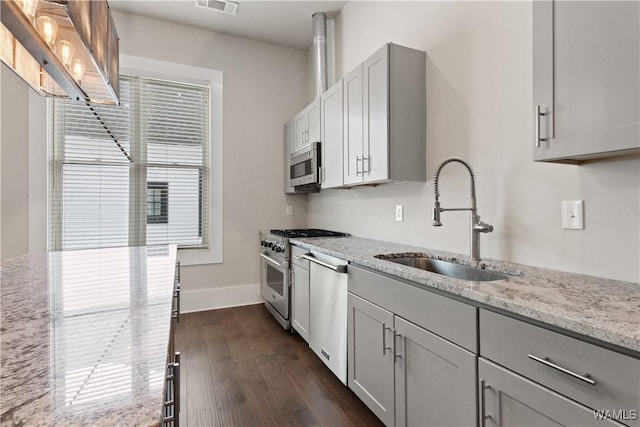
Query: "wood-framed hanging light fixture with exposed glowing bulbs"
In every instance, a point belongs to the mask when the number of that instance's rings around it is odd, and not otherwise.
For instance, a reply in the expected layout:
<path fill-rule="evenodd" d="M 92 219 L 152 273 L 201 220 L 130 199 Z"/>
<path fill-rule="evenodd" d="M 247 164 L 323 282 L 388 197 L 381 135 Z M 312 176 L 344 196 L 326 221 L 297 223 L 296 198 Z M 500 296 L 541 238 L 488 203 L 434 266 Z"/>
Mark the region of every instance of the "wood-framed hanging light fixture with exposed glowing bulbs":
<path fill-rule="evenodd" d="M 0 60 L 38 93 L 120 104 L 119 39 L 106 0 L 0 0 Z"/>

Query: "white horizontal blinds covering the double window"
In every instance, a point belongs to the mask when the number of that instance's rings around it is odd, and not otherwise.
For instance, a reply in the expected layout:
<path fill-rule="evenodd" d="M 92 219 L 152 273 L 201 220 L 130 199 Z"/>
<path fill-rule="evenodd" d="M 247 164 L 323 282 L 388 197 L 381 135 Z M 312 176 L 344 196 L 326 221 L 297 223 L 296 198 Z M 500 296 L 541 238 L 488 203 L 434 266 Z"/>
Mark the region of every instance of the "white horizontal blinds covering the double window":
<path fill-rule="evenodd" d="M 50 249 L 207 248 L 209 87 L 120 83 L 121 106 L 50 104 Z"/>

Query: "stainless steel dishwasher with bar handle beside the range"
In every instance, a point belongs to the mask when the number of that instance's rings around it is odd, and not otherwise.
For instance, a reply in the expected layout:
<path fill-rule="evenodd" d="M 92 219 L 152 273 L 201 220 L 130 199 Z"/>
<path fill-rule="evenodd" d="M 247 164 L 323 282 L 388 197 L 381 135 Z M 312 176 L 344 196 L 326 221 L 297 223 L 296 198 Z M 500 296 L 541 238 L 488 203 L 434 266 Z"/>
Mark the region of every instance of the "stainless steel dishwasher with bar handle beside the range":
<path fill-rule="evenodd" d="M 309 263 L 309 347 L 347 383 L 347 262 L 319 252 Z"/>

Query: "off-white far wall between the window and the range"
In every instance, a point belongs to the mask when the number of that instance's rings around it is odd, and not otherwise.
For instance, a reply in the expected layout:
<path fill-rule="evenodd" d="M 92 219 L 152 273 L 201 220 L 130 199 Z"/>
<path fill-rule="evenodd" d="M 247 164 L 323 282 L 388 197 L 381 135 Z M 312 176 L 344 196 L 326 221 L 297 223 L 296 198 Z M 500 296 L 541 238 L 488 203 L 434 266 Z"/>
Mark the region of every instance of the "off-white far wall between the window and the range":
<path fill-rule="evenodd" d="M 224 262 L 183 267 L 183 308 L 258 301 L 258 231 L 306 223 L 305 197 L 282 189 L 282 125 L 305 103 L 306 52 L 118 12 L 114 19 L 122 54 L 223 72 Z"/>

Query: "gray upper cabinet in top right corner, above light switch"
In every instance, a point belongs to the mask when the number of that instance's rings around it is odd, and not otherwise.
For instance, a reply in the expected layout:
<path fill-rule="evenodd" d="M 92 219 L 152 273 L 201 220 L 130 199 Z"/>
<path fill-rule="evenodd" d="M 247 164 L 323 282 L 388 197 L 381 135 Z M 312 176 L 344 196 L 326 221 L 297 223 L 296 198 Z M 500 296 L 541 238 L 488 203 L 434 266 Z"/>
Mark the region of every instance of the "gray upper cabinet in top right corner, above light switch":
<path fill-rule="evenodd" d="M 533 2 L 533 158 L 640 153 L 640 2 Z"/>

